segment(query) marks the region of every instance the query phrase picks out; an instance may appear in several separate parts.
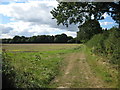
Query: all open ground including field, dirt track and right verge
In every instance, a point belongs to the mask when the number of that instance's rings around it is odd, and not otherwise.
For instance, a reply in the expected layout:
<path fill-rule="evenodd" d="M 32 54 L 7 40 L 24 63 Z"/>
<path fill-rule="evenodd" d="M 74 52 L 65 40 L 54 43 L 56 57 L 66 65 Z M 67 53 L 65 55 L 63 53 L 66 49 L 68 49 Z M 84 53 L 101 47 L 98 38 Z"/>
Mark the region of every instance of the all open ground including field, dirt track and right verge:
<path fill-rule="evenodd" d="M 80 44 L 3 44 L 17 88 L 116 88 L 118 71 Z"/>

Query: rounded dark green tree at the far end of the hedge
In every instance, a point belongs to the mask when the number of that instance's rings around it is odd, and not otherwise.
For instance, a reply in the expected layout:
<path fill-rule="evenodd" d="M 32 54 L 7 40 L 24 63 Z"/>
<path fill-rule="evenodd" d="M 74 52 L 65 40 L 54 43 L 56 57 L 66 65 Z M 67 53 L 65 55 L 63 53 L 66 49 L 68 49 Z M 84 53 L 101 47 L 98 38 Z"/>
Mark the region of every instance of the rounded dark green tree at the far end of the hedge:
<path fill-rule="evenodd" d="M 85 43 L 95 34 L 102 33 L 102 28 L 97 20 L 88 20 L 79 27 L 77 32 L 77 40 Z"/>

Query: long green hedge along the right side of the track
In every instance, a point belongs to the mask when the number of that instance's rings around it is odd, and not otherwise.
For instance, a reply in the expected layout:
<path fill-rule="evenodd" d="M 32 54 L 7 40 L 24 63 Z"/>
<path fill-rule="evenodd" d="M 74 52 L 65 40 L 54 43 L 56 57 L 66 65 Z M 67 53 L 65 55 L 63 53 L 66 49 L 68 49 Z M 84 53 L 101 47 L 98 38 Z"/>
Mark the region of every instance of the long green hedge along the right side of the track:
<path fill-rule="evenodd" d="M 101 34 L 94 35 L 86 45 L 92 48 L 92 52 L 109 58 L 110 63 L 120 63 L 120 30 L 111 28 Z"/>

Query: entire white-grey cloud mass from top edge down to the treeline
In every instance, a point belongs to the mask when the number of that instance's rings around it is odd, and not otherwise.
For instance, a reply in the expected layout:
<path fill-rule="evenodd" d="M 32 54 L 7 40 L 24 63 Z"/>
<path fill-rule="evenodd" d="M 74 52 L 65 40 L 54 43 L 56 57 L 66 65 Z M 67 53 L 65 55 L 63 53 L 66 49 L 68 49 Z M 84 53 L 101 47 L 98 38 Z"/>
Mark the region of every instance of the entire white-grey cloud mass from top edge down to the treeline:
<path fill-rule="evenodd" d="M 76 25 L 72 24 L 68 28 L 62 25 L 57 26 L 56 20 L 52 19 L 50 11 L 57 7 L 57 4 L 56 1 L 29 1 L 27 3 L 0 5 L 0 14 L 11 17 L 9 23 L 2 24 L 6 28 L 9 27 L 7 29 L 10 30 L 4 31 L 1 37 L 55 35 L 63 32 L 75 36 L 73 33 L 78 30 Z"/>

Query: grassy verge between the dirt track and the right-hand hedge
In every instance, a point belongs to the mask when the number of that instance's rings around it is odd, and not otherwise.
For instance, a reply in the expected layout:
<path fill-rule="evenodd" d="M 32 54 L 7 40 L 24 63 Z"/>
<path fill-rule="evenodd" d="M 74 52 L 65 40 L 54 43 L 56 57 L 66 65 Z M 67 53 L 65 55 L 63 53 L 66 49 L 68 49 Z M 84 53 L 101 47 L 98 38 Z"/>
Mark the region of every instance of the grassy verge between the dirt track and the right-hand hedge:
<path fill-rule="evenodd" d="M 93 73 L 103 80 L 105 87 L 116 88 L 118 87 L 118 71 L 112 68 L 106 58 L 94 55 L 91 49 L 84 45 L 83 49 L 86 54 L 87 62 L 91 66 Z"/>

